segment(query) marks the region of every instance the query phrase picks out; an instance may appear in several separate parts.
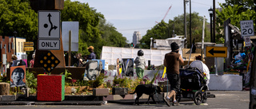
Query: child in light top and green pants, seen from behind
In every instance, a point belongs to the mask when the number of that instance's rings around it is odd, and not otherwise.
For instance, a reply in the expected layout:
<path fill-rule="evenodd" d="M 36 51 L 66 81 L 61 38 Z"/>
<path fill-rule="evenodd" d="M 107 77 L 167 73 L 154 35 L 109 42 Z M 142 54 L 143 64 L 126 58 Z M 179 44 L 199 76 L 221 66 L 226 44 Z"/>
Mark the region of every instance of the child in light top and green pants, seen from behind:
<path fill-rule="evenodd" d="M 136 74 L 137 74 L 138 79 L 143 79 L 146 60 L 143 57 L 144 52 L 142 51 L 142 49 L 138 50 L 137 55 L 138 56 L 134 60 L 134 63 L 136 65 Z"/>

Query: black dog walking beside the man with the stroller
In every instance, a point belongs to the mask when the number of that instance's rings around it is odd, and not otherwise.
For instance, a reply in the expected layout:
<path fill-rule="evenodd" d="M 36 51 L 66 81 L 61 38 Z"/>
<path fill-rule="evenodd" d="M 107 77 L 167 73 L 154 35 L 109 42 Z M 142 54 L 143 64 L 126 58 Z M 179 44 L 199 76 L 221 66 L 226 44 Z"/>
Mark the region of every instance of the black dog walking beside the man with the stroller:
<path fill-rule="evenodd" d="M 137 98 L 135 99 L 135 104 L 138 104 L 138 99 L 142 96 L 142 94 L 146 94 L 149 95 L 149 99 L 147 99 L 147 103 L 149 103 L 150 98 L 153 99 L 154 103 L 154 94 L 157 92 L 158 94 L 160 94 L 161 92 L 161 88 L 159 86 L 156 86 L 154 84 L 139 84 L 136 88 L 135 91 L 131 94 L 137 93 Z"/>

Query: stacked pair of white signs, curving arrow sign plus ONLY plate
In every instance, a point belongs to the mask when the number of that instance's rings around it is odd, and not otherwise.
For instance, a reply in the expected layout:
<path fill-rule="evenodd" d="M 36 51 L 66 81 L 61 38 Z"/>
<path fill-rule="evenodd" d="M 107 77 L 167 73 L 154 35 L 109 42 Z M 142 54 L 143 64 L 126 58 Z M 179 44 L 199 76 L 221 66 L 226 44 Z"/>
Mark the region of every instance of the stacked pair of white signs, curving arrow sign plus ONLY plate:
<path fill-rule="evenodd" d="M 38 50 L 60 49 L 60 11 L 38 11 Z"/>

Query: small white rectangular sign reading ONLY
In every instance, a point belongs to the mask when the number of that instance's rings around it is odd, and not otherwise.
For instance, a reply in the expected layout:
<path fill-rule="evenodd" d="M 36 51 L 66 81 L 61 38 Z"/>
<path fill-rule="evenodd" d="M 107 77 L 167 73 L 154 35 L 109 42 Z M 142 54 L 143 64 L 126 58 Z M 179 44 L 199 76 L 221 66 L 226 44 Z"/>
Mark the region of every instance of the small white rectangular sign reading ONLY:
<path fill-rule="evenodd" d="M 60 41 L 49 40 L 49 39 L 38 39 L 38 50 L 59 50 L 60 49 Z"/>

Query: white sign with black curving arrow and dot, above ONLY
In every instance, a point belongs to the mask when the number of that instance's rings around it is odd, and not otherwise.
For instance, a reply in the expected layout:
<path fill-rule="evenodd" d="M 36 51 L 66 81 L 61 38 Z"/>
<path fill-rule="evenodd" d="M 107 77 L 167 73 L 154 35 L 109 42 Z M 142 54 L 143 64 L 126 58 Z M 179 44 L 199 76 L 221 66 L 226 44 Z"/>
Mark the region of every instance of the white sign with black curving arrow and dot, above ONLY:
<path fill-rule="evenodd" d="M 38 11 L 38 38 L 60 38 L 60 11 Z"/>

